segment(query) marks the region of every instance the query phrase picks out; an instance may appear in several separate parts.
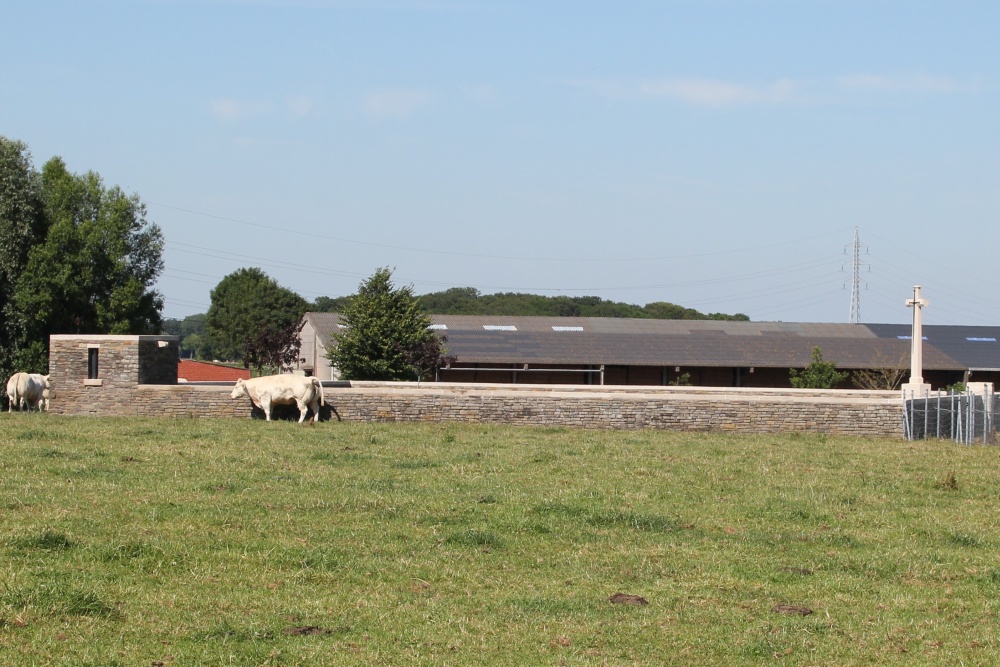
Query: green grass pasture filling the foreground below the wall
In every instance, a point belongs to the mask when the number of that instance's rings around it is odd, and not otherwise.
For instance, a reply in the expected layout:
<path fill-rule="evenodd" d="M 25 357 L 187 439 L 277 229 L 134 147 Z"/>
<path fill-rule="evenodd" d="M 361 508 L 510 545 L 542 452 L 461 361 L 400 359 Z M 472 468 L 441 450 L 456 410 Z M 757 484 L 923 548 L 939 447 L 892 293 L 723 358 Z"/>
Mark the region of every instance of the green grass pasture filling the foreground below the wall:
<path fill-rule="evenodd" d="M 0 665 L 1000 664 L 995 448 L 46 414 L 0 448 Z"/>

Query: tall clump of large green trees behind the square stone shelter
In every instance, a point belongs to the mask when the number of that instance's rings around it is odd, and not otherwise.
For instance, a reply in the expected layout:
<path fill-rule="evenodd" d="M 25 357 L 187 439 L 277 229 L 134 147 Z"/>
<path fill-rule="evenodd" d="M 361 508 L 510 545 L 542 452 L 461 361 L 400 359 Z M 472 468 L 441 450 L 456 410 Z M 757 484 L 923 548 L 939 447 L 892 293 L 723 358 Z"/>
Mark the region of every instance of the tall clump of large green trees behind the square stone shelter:
<path fill-rule="evenodd" d="M 45 372 L 53 333 L 157 333 L 162 255 L 138 195 L 0 136 L 0 376 Z"/>

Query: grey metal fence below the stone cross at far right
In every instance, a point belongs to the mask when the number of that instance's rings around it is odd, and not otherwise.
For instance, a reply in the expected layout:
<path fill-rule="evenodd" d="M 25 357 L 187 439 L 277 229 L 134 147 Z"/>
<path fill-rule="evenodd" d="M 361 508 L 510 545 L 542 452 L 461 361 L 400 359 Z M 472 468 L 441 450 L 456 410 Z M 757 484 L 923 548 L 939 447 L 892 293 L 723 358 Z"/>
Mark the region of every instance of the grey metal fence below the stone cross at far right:
<path fill-rule="evenodd" d="M 943 438 L 968 445 L 993 444 L 1000 425 L 998 399 L 990 389 L 904 394 L 903 433 L 907 440 Z"/>

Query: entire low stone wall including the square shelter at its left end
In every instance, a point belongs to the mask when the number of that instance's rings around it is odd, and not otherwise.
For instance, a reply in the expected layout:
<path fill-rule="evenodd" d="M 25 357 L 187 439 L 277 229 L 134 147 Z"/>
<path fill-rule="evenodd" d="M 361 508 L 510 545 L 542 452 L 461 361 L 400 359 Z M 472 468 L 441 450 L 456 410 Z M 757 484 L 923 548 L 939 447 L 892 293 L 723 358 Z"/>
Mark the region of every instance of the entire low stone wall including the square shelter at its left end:
<path fill-rule="evenodd" d="M 175 336 L 52 336 L 50 409 L 63 415 L 262 416 L 248 399 L 229 398 L 232 384 L 178 384 L 177 348 Z M 98 373 L 88 377 L 93 350 Z M 325 393 L 330 407 L 323 418 L 344 421 L 902 435 L 898 392 L 355 382 Z M 297 416 L 294 408 L 290 412 Z"/>

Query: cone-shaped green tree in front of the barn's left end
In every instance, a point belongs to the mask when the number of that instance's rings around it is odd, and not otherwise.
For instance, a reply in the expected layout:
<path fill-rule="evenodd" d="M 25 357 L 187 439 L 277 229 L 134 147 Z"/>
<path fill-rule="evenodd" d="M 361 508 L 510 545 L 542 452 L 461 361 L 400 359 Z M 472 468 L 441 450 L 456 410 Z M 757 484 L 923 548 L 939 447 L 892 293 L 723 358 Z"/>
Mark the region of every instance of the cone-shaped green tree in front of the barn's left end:
<path fill-rule="evenodd" d="M 413 287 L 396 288 L 392 271 L 377 270 L 341 313 L 346 331 L 327 353 L 345 380 L 411 380 L 447 363 Z"/>

